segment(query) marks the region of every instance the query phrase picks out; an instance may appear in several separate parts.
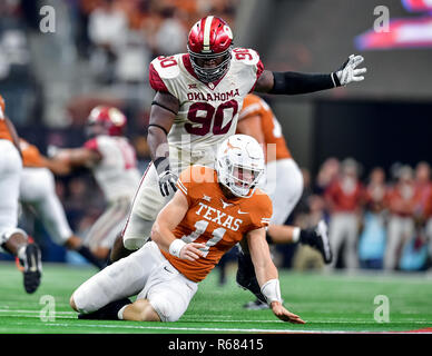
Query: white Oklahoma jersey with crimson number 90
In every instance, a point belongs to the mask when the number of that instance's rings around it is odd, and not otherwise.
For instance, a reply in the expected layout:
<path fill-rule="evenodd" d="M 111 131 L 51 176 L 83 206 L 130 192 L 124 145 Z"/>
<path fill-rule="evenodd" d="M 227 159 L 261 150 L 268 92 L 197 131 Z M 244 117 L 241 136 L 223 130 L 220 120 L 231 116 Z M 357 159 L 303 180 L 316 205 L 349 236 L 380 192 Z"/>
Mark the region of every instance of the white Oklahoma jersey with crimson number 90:
<path fill-rule="evenodd" d="M 190 164 L 213 167 L 217 146 L 236 131 L 245 96 L 263 71 L 252 49 L 233 49 L 228 72 L 218 81 L 199 81 L 189 55 L 158 57 L 150 63 L 149 80 L 157 91 L 169 92 L 180 103 L 168 134 L 170 166 L 180 171 Z"/>

